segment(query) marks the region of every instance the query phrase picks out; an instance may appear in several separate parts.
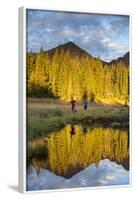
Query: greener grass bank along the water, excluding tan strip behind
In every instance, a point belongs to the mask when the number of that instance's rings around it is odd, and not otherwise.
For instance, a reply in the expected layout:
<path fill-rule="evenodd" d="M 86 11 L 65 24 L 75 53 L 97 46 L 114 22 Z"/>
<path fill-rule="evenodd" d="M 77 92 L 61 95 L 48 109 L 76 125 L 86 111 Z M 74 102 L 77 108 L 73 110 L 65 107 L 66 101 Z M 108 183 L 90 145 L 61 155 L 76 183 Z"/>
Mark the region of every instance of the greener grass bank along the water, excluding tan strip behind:
<path fill-rule="evenodd" d="M 27 115 L 27 136 L 35 138 L 63 128 L 66 124 L 85 124 L 92 126 L 128 127 L 127 107 L 92 107 L 87 111 L 78 110 L 75 114 L 69 108 L 29 108 Z"/>

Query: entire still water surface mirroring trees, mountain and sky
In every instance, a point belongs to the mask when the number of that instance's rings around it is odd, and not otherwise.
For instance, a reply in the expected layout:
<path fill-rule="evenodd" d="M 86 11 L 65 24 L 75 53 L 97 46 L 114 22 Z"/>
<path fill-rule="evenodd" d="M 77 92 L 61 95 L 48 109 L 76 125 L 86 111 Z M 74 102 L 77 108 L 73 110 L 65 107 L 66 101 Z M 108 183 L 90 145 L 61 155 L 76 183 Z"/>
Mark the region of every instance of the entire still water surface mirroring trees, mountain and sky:
<path fill-rule="evenodd" d="M 27 190 L 129 183 L 125 130 L 67 125 L 28 141 Z"/>

